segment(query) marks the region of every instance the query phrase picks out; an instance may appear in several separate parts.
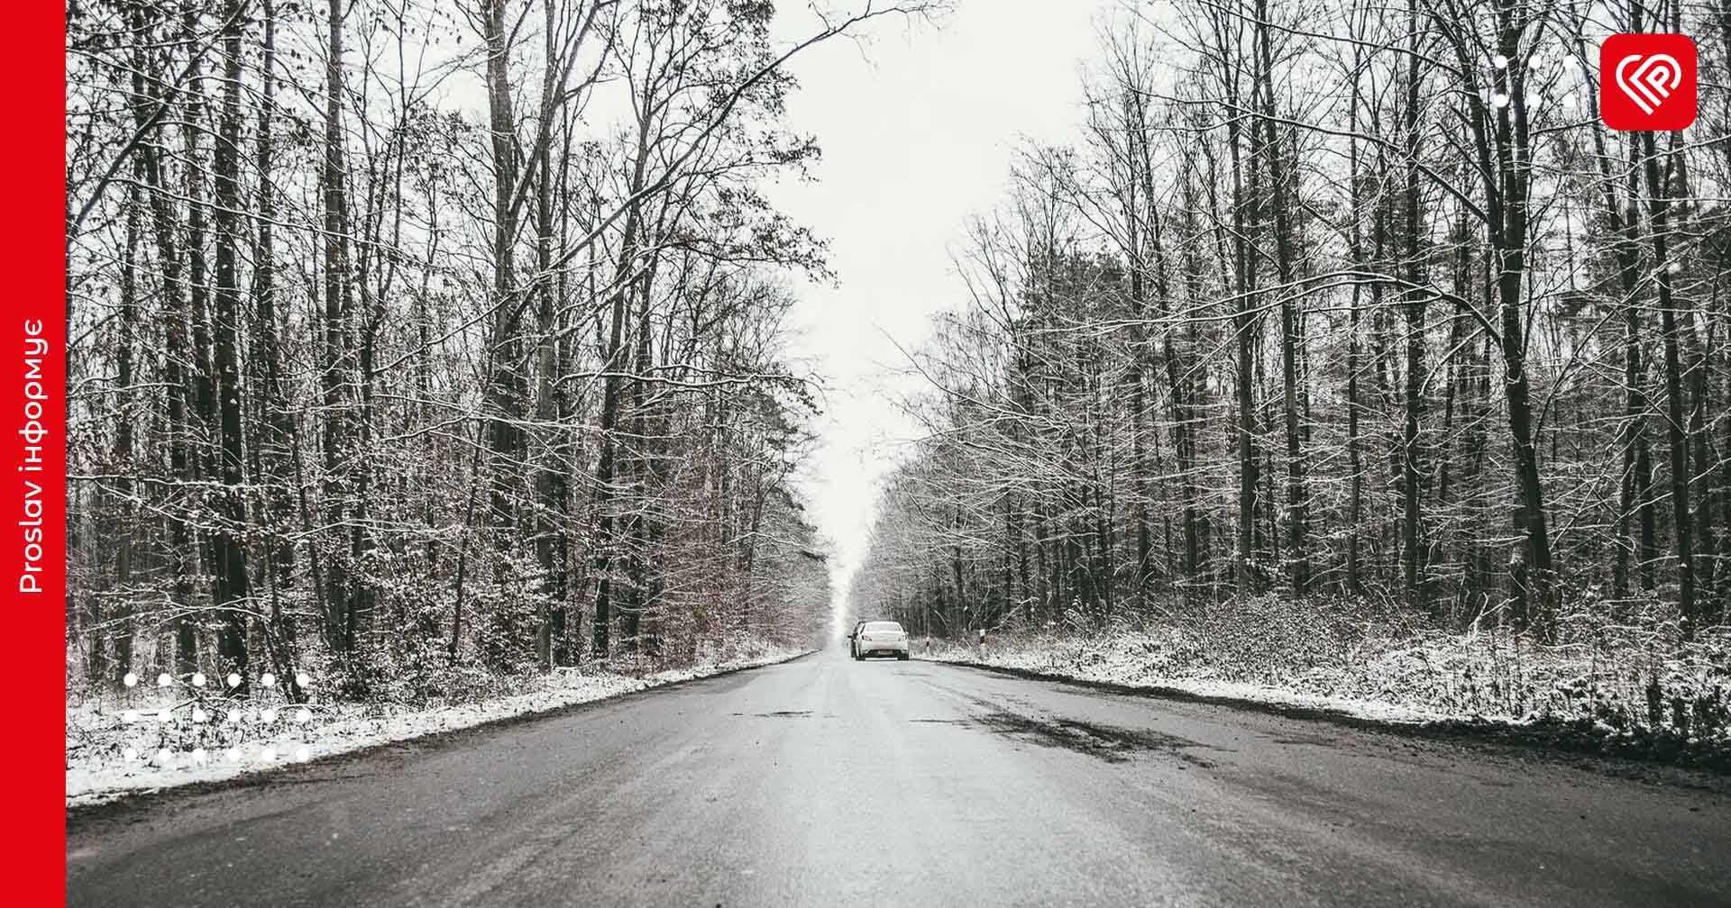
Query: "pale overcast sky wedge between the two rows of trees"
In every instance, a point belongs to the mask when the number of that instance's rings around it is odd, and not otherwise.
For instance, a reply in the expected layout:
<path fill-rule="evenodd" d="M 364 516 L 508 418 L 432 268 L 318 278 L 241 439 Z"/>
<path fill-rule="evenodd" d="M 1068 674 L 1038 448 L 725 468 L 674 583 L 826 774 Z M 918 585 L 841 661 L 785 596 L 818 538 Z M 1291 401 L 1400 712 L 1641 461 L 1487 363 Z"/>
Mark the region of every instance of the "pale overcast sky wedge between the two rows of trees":
<path fill-rule="evenodd" d="M 872 502 L 916 427 L 893 398 L 916 387 L 902 348 L 964 287 L 950 251 L 968 218 L 1004 195 L 1023 142 L 1068 142 L 1082 119 L 1082 64 L 1113 0 L 957 0 L 938 24 L 878 21 L 864 43 L 793 61 L 789 126 L 815 133 L 814 183 L 770 195 L 831 242 L 836 285 L 800 287 L 795 351 L 827 382 L 805 491 L 836 545 L 838 597 L 866 550 Z M 782 28 L 810 28 L 782 5 Z M 841 605 L 841 604 L 838 604 Z"/>

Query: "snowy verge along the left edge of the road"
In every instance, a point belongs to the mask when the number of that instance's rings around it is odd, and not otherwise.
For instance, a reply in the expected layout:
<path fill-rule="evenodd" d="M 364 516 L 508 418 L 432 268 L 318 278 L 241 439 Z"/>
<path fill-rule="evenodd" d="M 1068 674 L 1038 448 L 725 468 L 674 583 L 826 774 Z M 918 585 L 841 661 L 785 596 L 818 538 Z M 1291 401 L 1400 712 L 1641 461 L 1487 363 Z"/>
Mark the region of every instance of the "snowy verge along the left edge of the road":
<path fill-rule="evenodd" d="M 132 794 L 220 782 L 312 759 L 473 728 L 594 702 L 727 671 L 786 662 L 803 649 L 775 649 L 750 659 L 668 669 L 642 678 L 556 669 L 535 690 L 469 704 L 409 709 L 377 704 L 308 704 L 248 709 L 228 719 L 116 704 L 66 709 L 66 806 L 83 808 Z M 203 714 L 203 711 L 201 711 Z"/>

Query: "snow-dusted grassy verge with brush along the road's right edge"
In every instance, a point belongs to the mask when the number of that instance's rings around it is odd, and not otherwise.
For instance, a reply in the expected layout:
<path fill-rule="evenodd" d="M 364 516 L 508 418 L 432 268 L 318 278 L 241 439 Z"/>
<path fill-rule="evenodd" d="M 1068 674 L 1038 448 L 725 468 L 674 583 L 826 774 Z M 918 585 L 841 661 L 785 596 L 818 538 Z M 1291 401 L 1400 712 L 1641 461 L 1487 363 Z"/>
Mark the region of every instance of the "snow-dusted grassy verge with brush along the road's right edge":
<path fill-rule="evenodd" d="M 1556 645 L 1503 630 L 1414 630 L 1354 605 L 1272 597 L 1229 617 L 1025 630 L 985 645 L 916 642 L 924 659 L 1165 688 L 1380 723 L 1520 732 L 1731 768 L 1731 630 L 1681 645 L 1663 630 L 1570 630 Z"/>

